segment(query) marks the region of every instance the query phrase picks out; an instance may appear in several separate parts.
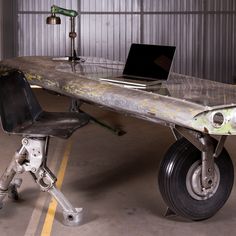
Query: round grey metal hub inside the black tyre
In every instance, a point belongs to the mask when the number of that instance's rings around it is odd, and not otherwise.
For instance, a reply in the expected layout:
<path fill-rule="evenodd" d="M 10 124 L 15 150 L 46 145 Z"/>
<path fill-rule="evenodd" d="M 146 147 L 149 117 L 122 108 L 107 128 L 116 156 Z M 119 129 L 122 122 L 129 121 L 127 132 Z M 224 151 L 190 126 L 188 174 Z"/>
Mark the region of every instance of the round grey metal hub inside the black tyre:
<path fill-rule="evenodd" d="M 188 193 L 196 200 L 207 200 L 211 198 L 217 191 L 220 183 L 220 171 L 216 164 L 214 164 L 214 178 L 210 188 L 205 189 L 202 186 L 201 174 L 202 165 L 201 161 L 195 162 L 189 169 L 186 177 L 186 187 Z"/>

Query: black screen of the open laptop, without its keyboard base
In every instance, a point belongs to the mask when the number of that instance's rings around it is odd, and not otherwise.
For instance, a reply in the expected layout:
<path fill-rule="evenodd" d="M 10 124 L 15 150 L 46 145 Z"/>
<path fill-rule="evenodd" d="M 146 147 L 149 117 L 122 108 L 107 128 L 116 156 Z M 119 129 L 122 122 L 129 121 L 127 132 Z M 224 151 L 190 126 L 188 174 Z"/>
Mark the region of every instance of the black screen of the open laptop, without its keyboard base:
<path fill-rule="evenodd" d="M 176 47 L 132 44 L 123 75 L 145 80 L 167 80 Z"/>

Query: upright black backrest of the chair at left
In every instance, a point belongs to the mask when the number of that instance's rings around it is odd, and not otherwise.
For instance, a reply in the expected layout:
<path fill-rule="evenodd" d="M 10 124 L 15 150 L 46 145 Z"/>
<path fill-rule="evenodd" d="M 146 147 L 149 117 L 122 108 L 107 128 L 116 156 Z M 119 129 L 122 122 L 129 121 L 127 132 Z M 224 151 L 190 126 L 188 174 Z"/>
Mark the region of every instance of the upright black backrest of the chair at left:
<path fill-rule="evenodd" d="M 0 116 L 2 128 L 14 132 L 34 122 L 42 109 L 24 74 L 11 70 L 0 74 Z"/>

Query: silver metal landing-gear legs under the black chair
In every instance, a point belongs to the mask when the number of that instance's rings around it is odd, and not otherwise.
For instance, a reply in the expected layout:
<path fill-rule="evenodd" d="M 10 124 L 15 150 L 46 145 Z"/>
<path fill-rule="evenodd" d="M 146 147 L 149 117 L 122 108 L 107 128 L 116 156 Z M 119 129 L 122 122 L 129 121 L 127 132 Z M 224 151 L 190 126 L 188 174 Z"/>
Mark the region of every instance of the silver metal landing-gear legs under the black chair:
<path fill-rule="evenodd" d="M 12 180 L 16 173 L 30 172 L 36 183 L 42 191 L 51 194 L 59 203 L 63 210 L 64 224 L 68 226 L 79 225 L 82 221 L 83 209 L 74 208 L 63 193 L 56 188 L 57 181 L 54 174 L 46 165 L 47 137 L 42 138 L 24 138 L 22 147 L 18 151 L 8 168 L 0 178 L 0 206 L 9 190 L 16 191 L 16 185 L 19 186 L 19 181 L 12 188 Z"/>

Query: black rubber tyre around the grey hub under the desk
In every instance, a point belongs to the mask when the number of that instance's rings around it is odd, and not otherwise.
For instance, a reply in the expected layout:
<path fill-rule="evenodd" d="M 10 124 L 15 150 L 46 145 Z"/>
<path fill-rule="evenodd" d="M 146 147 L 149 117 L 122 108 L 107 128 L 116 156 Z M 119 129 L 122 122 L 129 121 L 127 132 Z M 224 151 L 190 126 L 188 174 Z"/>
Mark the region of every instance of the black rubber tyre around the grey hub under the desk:
<path fill-rule="evenodd" d="M 215 163 L 220 171 L 220 183 L 215 194 L 206 200 L 196 200 L 188 193 L 186 176 L 190 167 L 201 160 L 201 152 L 185 138 L 177 140 L 163 158 L 158 176 L 161 195 L 177 215 L 190 220 L 212 217 L 230 196 L 234 182 L 234 167 L 224 148 Z"/>

